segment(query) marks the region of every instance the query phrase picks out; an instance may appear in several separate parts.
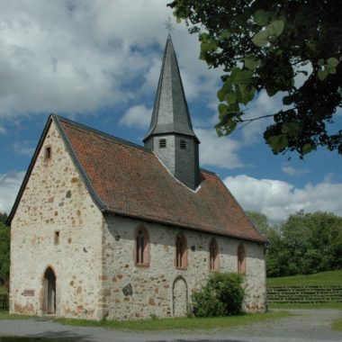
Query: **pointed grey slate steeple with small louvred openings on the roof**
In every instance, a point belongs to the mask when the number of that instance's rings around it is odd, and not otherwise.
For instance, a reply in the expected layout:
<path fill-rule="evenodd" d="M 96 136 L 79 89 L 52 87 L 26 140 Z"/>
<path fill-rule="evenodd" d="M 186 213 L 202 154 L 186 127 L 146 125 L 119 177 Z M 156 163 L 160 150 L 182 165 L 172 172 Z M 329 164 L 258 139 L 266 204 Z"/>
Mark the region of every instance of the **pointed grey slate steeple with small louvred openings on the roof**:
<path fill-rule="evenodd" d="M 200 140 L 193 132 L 170 35 L 166 41 L 152 119 L 144 143 L 176 179 L 193 190 L 197 188 Z"/>

